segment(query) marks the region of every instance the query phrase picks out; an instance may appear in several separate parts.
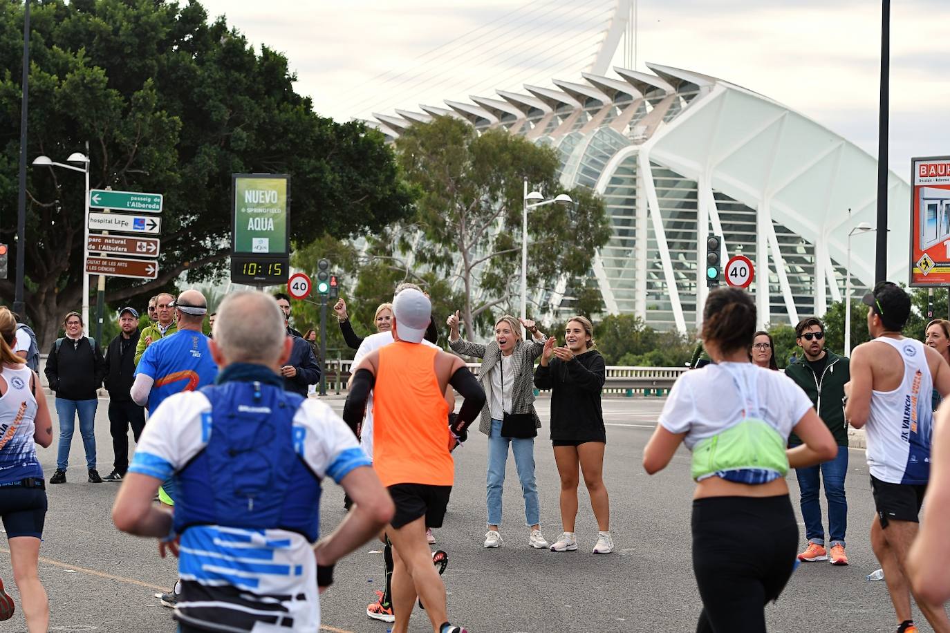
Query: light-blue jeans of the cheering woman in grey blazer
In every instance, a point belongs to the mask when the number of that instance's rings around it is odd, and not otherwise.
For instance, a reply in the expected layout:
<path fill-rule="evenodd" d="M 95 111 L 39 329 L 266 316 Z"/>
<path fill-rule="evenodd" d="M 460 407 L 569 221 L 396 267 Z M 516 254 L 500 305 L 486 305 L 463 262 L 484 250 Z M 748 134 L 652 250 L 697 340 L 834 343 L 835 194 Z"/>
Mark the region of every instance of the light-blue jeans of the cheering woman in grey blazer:
<path fill-rule="evenodd" d="M 491 420 L 491 435 L 488 436 L 488 525 L 502 525 L 502 489 L 508 444 L 511 444 L 511 452 L 515 454 L 515 467 L 522 481 L 524 521 L 529 526 L 538 525 L 541 523 L 541 510 L 534 478 L 534 438 L 503 438 L 500 419 Z"/>

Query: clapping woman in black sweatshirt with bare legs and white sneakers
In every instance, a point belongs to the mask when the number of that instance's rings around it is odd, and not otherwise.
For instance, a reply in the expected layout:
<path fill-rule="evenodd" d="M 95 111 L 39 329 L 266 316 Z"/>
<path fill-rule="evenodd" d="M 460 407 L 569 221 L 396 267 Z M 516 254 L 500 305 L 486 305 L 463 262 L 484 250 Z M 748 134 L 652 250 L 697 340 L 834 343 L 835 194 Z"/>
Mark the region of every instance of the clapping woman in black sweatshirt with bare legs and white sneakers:
<path fill-rule="evenodd" d="M 564 346 L 555 337 L 544 344 L 535 386 L 551 389 L 551 443 L 561 475 L 561 527 L 552 551 L 578 549 L 574 522 L 578 515 L 578 467 L 590 493 L 599 534 L 595 554 L 614 549 L 610 537 L 610 500 L 603 485 L 603 449 L 607 434 L 600 409 L 600 390 L 606 375 L 603 357 L 594 346 L 594 326 L 577 316 L 564 328 Z"/>

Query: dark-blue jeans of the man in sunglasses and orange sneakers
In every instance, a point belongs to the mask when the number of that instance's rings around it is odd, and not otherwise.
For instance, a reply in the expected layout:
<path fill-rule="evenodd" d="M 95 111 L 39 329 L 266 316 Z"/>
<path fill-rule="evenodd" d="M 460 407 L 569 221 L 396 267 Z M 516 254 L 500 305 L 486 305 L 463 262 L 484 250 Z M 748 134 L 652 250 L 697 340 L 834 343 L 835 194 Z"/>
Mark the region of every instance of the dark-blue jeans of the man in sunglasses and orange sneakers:
<path fill-rule="evenodd" d="M 821 479 L 825 479 L 825 498 L 828 502 L 828 536 L 830 545 L 845 546 L 847 530 L 847 447 L 838 447 L 838 456 L 817 466 L 796 468 L 798 487 L 802 491 L 802 518 L 809 543 L 825 545 L 825 527 L 822 525 Z"/>

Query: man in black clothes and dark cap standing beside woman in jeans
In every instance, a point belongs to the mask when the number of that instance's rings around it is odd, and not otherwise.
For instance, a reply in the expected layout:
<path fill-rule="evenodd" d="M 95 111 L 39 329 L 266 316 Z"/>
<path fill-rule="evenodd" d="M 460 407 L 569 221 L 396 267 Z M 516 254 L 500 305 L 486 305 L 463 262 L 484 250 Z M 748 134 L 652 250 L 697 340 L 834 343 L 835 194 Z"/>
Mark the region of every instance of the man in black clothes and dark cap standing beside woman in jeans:
<path fill-rule="evenodd" d="M 122 331 L 105 350 L 105 389 L 109 392 L 109 433 L 115 453 L 112 472 L 103 481 L 122 481 L 128 470 L 128 427 L 136 443 L 145 427 L 145 407 L 132 401 L 135 382 L 135 346 L 139 344 L 139 313 L 134 307 L 119 310 Z"/>

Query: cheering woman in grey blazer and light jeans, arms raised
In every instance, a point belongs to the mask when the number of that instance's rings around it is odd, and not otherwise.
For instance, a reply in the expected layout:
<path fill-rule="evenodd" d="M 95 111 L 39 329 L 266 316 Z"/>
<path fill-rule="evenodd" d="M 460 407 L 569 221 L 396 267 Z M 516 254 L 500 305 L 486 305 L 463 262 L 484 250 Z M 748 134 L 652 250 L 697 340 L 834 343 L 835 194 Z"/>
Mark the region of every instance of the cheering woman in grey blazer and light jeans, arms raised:
<path fill-rule="evenodd" d="M 519 322 L 531 332 L 531 343 L 522 340 Z M 522 484 L 524 519 L 530 527 L 528 545 L 546 549 L 548 544 L 540 530 L 541 509 L 535 484 L 534 438 L 502 436 L 505 414 L 526 414 L 534 420 L 536 429 L 541 426 L 541 419 L 534 408 L 533 372 L 534 361 L 541 356 L 546 337 L 538 331 L 534 321 L 515 319 L 508 315 L 495 324 L 495 338 L 488 344 L 470 343 L 460 336 L 458 311 L 448 317 L 447 324 L 451 328 L 448 345 L 452 350 L 482 359 L 478 379 L 485 389 L 487 400 L 482 409 L 479 431 L 488 436 L 488 531 L 485 534 L 485 547 L 498 548 L 503 542 L 498 527 L 502 523 L 504 465 L 510 446 Z"/>

